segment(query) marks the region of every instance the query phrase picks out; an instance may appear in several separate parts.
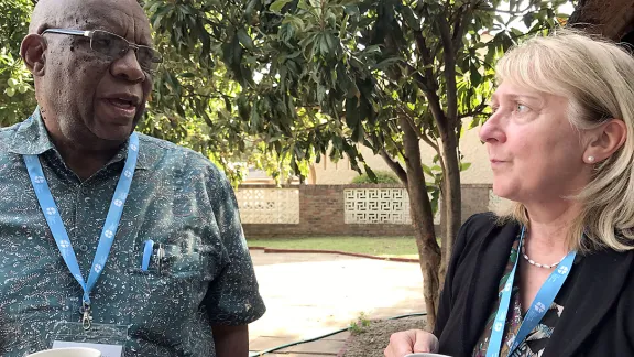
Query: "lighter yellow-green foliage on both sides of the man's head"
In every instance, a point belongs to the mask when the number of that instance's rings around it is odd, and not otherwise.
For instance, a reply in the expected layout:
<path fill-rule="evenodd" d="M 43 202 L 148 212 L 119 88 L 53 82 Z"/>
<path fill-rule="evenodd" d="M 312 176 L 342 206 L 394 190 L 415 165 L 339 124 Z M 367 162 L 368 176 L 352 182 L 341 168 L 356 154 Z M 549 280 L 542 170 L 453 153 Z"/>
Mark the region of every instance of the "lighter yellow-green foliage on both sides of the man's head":
<path fill-rule="evenodd" d="M 0 0 L 0 127 L 24 120 L 36 106 L 33 78 L 20 60 L 34 2 Z M 140 131 L 201 152 L 223 169 L 233 184 L 242 180 L 249 165 L 273 176 L 289 175 L 287 165 L 263 151 L 256 137 L 244 133 L 239 121 L 228 120 L 225 108 L 234 106 L 240 86 L 226 77 L 223 66 L 215 66 L 209 53 L 205 56 L 208 61 L 200 64 L 182 61 L 170 39 L 156 36 L 156 45 L 163 50 L 165 65 L 155 75 L 155 90 Z M 197 88 L 196 96 L 188 95 L 193 88 Z M 307 172 L 308 166 L 302 169 Z"/>

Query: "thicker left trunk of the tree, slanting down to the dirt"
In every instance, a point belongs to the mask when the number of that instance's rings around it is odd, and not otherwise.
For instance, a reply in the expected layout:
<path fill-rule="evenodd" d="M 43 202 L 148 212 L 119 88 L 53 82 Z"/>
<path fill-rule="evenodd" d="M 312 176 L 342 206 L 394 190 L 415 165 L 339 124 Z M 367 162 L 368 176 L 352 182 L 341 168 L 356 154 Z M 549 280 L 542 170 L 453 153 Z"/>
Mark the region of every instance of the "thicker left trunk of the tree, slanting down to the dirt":
<path fill-rule="evenodd" d="M 420 270 L 423 272 L 425 304 L 427 309 L 427 326 L 433 328 L 436 324 L 436 313 L 440 282 L 438 271 L 440 269 L 440 247 L 436 241 L 434 231 L 434 214 L 427 195 L 423 166 L 420 165 L 420 145 L 418 136 L 408 125 L 406 119 L 400 119 L 403 130 L 403 145 L 405 149 L 405 164 L 407 172 L 407 192 L 409 194 L 409 215 L 414 226 L 416 246 L 420 257 Z"/>

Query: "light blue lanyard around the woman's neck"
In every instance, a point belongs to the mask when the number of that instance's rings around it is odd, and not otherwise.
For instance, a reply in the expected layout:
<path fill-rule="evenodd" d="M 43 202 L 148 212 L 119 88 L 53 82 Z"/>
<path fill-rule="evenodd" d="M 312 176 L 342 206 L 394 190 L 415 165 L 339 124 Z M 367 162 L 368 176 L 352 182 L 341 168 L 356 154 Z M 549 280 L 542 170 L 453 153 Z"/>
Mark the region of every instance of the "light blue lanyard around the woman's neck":
<path fill-rule="evenodd" d="M 509 314 L 509 305 L 511 304 L 511 291 L 513 290 L 513 281 L 515 280 L 515 272 L 517 270 L 517 262 L 520 261 L 520 251 L 522 251 L 522 244 L 524 242 L 525 227 L 522 227 L 522 235 L 520 237 L 520 246 L 517 247 L 517 259 L 515 260 L 515 266 L 513 271 L 506 280 L 506 284 L 502 290 L 502 298 L 500 300 L 500 307 L 498 309 L 498 314 L 495 315 L 495 321 L 493 322 L 493 327 L 491 331 L 491 338 L 489 339 L 489 346 L 487 347 L 487 357 L 499 357 L 500 349 L 502 347 L 502 337 L 504 335 L 504 325 L 506 323 L 506 315 Z M 515 336 L 513 345 L 509 350 L 509 356 L 520 346 L 520 344 L 526 338 L 526 336 L 539 324 L 544 315 L 550 305 L 555 301 L 555 298 L 561 290 L 568 273 L 572 268 L 575 262 L 576 251 L 570 251 L 566 258 L 557 266 L 557 269 L 550 273 L 548 280 L 542 285 L 539 292 L 535 296 L 531 309 L 526 312 L 526 316 L 520 326 L 520 331 Z"/>

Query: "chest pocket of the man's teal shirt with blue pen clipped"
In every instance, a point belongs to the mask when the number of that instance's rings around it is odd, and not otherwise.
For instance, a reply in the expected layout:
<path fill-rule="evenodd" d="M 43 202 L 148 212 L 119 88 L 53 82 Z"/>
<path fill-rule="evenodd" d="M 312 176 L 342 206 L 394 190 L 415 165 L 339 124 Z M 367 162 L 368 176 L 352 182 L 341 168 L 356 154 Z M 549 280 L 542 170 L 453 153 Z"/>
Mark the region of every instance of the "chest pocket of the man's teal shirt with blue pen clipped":
<path fill-rule="evenodd" d="M 215 246 L 156 242 L 147 270 L 141 269 L 143 245 L 128 269 L 130 336 L 176 346 L 187 326 L 198 324 L 201 302 L 219 267 Z M 220 255 L 221 256 L 221 255 Z M 142 306 L 140 309 L 140 306 Z"/>

